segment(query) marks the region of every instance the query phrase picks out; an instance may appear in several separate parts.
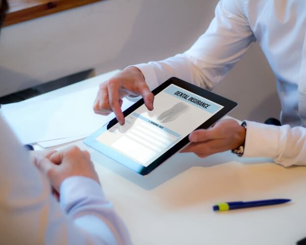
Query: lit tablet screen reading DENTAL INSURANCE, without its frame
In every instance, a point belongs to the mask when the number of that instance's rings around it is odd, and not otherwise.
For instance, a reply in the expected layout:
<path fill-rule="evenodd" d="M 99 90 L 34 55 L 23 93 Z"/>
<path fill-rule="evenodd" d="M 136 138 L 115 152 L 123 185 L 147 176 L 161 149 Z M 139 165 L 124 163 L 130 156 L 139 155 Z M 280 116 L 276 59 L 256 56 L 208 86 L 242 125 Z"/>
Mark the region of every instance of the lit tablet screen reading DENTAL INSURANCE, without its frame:
<path fill-rule="evenodd" d="M 154 110 L 144 104 L 125 118 L 125 124 L 114 124 L 95 140 L 129 159 L 147 167 L 223 106 L 174 84 L 158 93 Z"/>

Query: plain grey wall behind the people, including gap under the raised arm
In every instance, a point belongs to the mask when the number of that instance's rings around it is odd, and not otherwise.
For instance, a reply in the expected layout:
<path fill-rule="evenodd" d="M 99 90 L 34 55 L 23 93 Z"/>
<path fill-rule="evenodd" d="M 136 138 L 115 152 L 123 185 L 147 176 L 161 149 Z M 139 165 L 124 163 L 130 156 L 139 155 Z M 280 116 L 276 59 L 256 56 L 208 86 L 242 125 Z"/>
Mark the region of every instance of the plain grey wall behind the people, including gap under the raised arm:
<path fill-rule="evenodd" d="M 104 0 L 5 27 L 0 96 L 92 68 L 100 74 L 183 52 L 208 27 L 217 2 Z M 275 77 L 258 44 L 214 92 L 239 103 L 233 117 L 278 118 Z"/>

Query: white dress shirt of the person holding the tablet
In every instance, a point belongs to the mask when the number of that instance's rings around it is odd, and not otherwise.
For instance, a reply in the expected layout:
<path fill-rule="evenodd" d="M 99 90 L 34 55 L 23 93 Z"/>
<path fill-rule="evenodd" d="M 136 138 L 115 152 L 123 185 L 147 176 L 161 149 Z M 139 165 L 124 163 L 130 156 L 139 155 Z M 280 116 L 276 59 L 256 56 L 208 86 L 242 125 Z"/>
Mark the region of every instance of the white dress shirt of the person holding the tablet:
<path fill-rule="evenodd" d="M 212 89 L 257 41 L 277 78 L 280 121 L 298 127 L 248 122 L 244 156 L 306 165 L 305 31 L 305 0 L 221 0 L 208 29 L 189 50 L 135 66 L 150 89 L 172 76 Z"/>

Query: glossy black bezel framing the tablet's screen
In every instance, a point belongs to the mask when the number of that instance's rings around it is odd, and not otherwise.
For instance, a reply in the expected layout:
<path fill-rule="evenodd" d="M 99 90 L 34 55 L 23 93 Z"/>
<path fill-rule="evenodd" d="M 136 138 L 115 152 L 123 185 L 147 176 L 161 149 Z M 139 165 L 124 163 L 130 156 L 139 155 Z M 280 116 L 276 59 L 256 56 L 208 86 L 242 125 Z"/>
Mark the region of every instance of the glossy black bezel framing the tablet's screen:
<path fill-rule="evenodd" d="M 210 91 L 207 91 L 203 88 L 197 87 L 194 84 L 191 84 L 189 82 L 183 81 L 177 77 L 171 77 L 167 81 L 165 81 L 163 84 L 158 86 L 156 89 L 152 91 L 153 95 L 157 95 L 161 91 L 163 91 L 165 88 L 167 88 L 169 85 L 174 84 L 176 86 L 179 86 L 183 89 L 186 89 L 187 91 L 190 91 L 198 96 L 201 96 L 203 98 L 207 98 L 217 104 L 220 104 L 223 106 L 223 108 L 217 112 L 215 115 L 213 115 L 211 118 L 209 118 L 207 121 L 199 125 L 196 129 L 206 129 L 216 123 L 218 120 L 220 120 L 224 115 L 226 115 L 229 111 L 231 111 L 233 108 L 237 106 L 237 103 L 224 98 L 220 95 L 216 95 Z M 124 117 L 127 117 L 131 113 L 133 113 L 137 108 L 139 108 L 141 105 L 144 104 L 143 98 L 139 99 L 135 104 L 127 108 L 125 111 L 123 111 Z M 96 138 L 101 135 L 103 132 L 111 128 L 113 125 L 118 123 L 117 119 L 112 119 L 108 124 L 101 127 L 99 130 L 97 130 L 95 133 L 84 139 L 83 143 L 87 146 L 103 153 L 104 155 L 107 155 L 111 157 L 113 160 L 119 162 L 120 164 L 132 169 L 135 172 L 138 172 L 141 175 L 146 175 L 149 172 L 153 171 L 156 167 L 161 165 L 164 161 L 166 161 L 170 156 L 172 156 L 174 153 L 179 151 L 181 148 L 185 147 L 189 143 L 189 139 L 187 135 L 183 139 L 181 139 L 179 142 L 177 142 L 174 146 L 169 148 L 165 153 L 163 153 L 160 157 L 155 159 L 152 163 L 150 163 L 147 167 L 144 167 L 143 165 L 135 162 L 134 160 L 124 157 L 124 160 L 120 161 L 120 154 L 116 154 L 117 152 L 114 149 L 111 149 L 111 147 L 104 146 L 100 142 L 96 140 Z M 191 132 L 190 132 L 191 133 Z M 109 154 L 108 154 L 109 153 Z M 130 159 L 131 161 L 129 161 Z"/>

